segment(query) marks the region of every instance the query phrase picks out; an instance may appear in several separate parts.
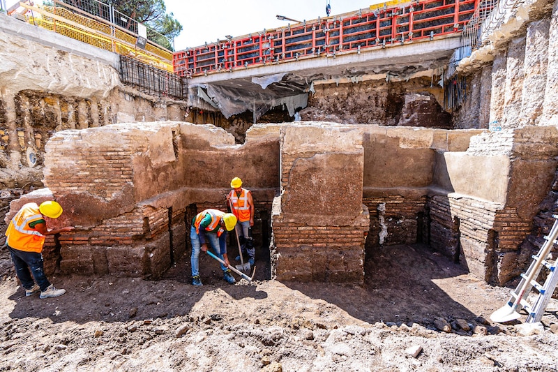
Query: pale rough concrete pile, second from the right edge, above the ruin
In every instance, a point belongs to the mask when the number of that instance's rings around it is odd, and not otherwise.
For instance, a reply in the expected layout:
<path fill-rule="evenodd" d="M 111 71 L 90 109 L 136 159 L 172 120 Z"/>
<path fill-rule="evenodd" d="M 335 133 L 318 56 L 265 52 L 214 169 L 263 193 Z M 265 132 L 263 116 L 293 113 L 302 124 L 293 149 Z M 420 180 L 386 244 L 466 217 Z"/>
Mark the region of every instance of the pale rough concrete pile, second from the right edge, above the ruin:
<path fill-rule="evenodd" d="M 531 22 L 527 27 L 525 45 L 525 80 L 520 125 L 538 125 L 545 101 L 546 72 L 548 67 L 548 31 L 550 18 Z"/>

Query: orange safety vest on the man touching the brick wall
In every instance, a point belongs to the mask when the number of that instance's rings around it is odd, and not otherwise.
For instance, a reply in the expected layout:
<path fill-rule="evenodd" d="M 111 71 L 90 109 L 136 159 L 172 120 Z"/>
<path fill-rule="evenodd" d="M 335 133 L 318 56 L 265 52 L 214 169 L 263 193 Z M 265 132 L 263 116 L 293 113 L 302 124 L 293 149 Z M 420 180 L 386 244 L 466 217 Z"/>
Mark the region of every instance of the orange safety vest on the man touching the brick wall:
<path fill-rule="evenodd" d="M 8 225 L 6 244 L 25 252 L 40 253 L 43 251 L 45 235 L 29 227 L 29 223 L 39 220 L 44 221 L 45 217 L 40 214 L 38 205 L 36 203 L 25 204 Z"/>

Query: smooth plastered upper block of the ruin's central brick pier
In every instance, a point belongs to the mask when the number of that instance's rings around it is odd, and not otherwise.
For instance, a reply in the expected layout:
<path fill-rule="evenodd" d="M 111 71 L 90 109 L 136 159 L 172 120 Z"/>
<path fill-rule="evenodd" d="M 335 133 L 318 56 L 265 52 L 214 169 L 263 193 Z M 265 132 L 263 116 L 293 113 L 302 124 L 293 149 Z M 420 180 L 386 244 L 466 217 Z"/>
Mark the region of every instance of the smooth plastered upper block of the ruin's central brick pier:
<path fill-rule="evenodd" d="M 347 216 L 359 215 L 364 154 L 361 130 L 334 125 L 286 126 L 281 129 L 280 146 L 285 154 L 281 174 L 288 175 L 282 180 L 282 214 L 299 216 L 296 219 L 308 225 L 335 225 Z"/>

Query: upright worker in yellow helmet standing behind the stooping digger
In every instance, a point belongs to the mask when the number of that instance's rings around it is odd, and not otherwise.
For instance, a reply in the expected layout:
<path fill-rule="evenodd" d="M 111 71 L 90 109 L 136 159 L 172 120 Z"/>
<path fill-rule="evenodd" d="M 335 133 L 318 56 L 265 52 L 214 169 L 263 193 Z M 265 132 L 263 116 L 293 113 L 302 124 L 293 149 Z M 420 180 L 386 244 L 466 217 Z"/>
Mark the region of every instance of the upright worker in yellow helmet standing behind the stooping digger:
<path fill-rule="evenodd" d="M 248 262 L 254 266 L 256 250 L 252 239 L 252 226 L 254 225 L 254 200 L 252 193 L 246 188 L 242 188 L 242 180 L 234 177 L 231 181 L 231 190 L 227 194 L 227 202 L 232 204 L 232 213 L 238 219 L 236 233 L 239 235 L 240 247 L 239 255 L 248 253 Z M 240 260 L 240 256 L 236 258 Z"/>

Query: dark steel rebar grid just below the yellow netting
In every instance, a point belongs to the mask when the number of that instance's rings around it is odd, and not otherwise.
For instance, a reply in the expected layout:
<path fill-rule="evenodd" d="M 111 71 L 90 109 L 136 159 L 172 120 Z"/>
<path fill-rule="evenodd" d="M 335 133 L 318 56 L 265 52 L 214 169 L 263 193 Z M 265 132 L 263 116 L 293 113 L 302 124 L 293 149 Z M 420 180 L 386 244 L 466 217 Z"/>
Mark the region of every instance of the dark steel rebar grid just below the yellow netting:
<path fill-rule="evenodd" d="M 186 98 L 186 87 L 181 77 L 122 55 L 120 80 L 151 96 Z"/>

